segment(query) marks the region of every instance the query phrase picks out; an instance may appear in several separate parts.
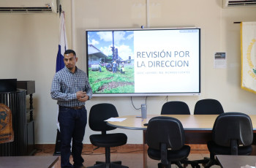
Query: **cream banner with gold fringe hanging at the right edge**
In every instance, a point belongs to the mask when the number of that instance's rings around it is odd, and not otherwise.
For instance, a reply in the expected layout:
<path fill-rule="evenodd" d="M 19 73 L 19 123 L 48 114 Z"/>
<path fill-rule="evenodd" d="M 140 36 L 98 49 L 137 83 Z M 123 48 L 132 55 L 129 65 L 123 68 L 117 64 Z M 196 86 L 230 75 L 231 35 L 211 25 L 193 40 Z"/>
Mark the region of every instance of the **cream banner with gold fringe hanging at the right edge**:
<path fill-rule="evenodd" d="M 241 23 L 241 88 L 256 93 L 256 22 Z"/>

